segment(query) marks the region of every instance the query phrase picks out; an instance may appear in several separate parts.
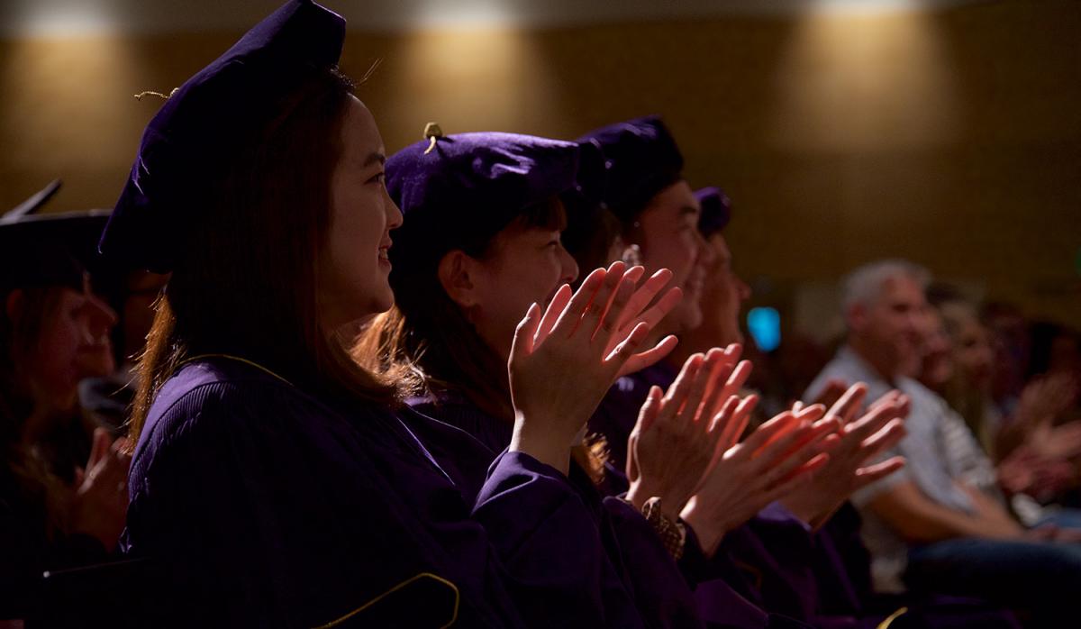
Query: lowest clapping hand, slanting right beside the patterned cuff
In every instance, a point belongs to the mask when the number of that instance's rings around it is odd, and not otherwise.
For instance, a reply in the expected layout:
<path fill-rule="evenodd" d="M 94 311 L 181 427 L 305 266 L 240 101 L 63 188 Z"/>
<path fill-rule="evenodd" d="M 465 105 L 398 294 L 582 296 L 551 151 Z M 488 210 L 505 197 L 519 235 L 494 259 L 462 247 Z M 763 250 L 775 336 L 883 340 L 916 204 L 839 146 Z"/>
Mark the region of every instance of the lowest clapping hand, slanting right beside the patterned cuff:
<path fill-rule="evenodd" d="M 786 411 L 730 447 L 706 471 L 703 484 L 681 517 L 712 554 L 725 533 L 750 520 L 770 503 L 805 486 L 829 460 L 823 441 L 839 427 L 813 405 Z"/>

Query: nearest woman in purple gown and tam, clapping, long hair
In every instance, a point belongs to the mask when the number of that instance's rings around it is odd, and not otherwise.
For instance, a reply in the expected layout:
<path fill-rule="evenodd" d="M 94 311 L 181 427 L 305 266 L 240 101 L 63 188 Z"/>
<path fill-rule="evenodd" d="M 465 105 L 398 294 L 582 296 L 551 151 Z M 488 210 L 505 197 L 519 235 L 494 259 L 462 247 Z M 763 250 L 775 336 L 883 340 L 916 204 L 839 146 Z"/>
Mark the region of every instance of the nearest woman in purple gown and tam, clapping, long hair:
<path fill-rule="evenodd" d="M 432 453 L 455 442 L 422 441 L 425 419 L 344 346 L 392 303 L 402 220 L 336 69 L 344 32 L 292 0 L 169 95 L 102 236 L 107 258 L 172 272 L 132 417 L 122 547 L 156 566 L 138 620 L 602 626 L 605 549 L 570 443 L 648 326 L 611 354 L 591 343 L 623 273 L 544 338 L 531 309 L 504 365 L 517 437 L 459 486 Z"/>

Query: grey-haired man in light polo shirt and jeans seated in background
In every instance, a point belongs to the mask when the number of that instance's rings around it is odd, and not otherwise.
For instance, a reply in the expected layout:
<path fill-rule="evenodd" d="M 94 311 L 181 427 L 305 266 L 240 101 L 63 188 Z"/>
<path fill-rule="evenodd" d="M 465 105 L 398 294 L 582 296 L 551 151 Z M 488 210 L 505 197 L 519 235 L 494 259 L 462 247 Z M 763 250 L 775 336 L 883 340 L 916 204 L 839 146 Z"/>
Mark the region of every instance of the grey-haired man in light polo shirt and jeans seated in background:
<path fill-rule="evenodd" d="M 908 465 L 853 497 L 864 513 L 876 587 L 899 591 L 907 583 L 978 595 L 1023 608 L 1037 624 L 1051 623 L 1071 613 L 1071 593 L 1081 587 L 1081 546 L 1057 528 L 1026 530 L 960 469 L 947 440 L 963 419 L 912 379 L 920 367 L 925 283 L 926 272 L 905 262 L 853 271 L 843 289 L 845 345 L 808 391 L 814 396 L 840 378 L 866 383 L 871 397 L 896 388 L 910 400 L 908 436 L 884 455 L 900 454 Z M 975 441 L 971 432 L 965 438 Z"/>

